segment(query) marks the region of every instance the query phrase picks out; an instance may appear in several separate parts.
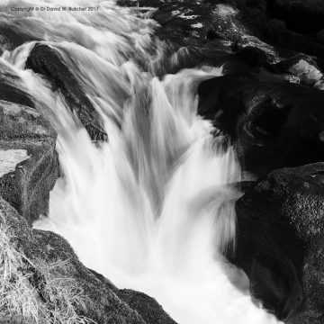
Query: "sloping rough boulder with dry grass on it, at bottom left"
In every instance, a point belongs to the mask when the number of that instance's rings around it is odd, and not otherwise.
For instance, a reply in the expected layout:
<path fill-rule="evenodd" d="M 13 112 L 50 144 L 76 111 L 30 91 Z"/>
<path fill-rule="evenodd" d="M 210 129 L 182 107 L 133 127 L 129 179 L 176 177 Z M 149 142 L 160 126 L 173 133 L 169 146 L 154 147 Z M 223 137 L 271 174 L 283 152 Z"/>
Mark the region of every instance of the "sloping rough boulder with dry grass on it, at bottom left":
<path fill-rule="evenodd" d="M 19 306 L 26 307 L 29 302 L 27 306 L 36 309 L 44 308 L 45 304 L 45 310 L 50 311 L 54 308 L 59 315 L 59 311 L 62 309 L 65 311 L 66 305 L 60 304 L 64 302 L 70 303 L 67 316 L 75 313 L 77 317 L 85 317 L 101 324 L 175 324 L 175 321 L 152 298 L 144 293 L 120 291 L 102 275 L 83 266 L 64 238 L 50 231 L 31 229 L 27 221 L 2 198 L 0 198 L 0 230 L 3 235 L 1 244 L 5 243 L 4 234 L 9 236 L 10 247 L 5 247 L 10 249 L 9 256 L 15 255 L 15 250 L 23 256 L 22 265 L 12 268 L 12 271 L 16 272 L 11 278 L 12 284 L 14 285 L 15 278 L 23 278 L 23 284 L 18 286 L 18 290 L 29 289 L 30 295 L 36 294 L 32 301 L 23 300 L 21 304 L 15 305 L 18 314 L 22 311 Z M 0 266 L 4 265 L 1 263 Z M 4 278 L 2 280 L 3 284 Z M 71 283 L 73 289 L 68 289 Z M 62 291 L 68 295 L 61 295 Z M 50 292 L 54 292 L 55 295 L 50 295 Z M 12 293 L 14 295 L 28 292 Z M 2 303 L 0 305 L 3 306 Z M 5 314 L 4 309 L 0 311 L 1 315 Z M 22 314 L 28 315 L 28 311 Z M 17 313 L 14 314 L 16 315 Z M 44 316 L 43 313 L 40 315 Z M 14 322 L 13 315 L 11 320 Z M 26 318 L 23 320 L 28 322 Z M 40 322 L 48 321 L 40 319 Z"/>

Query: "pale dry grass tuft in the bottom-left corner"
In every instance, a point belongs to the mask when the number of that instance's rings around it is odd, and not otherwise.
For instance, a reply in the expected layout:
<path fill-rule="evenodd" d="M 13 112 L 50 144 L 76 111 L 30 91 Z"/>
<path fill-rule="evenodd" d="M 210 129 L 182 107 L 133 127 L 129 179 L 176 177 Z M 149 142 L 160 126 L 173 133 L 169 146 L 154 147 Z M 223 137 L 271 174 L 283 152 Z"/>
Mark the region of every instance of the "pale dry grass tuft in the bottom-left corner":
<path fill-rule="evenodd" d="M 67 262 L 29 260 L 0 224 L 0 321 L 35 324 L 94 323 L 76 313 L 85 310 L 83 291 L 68 277 Z"/>

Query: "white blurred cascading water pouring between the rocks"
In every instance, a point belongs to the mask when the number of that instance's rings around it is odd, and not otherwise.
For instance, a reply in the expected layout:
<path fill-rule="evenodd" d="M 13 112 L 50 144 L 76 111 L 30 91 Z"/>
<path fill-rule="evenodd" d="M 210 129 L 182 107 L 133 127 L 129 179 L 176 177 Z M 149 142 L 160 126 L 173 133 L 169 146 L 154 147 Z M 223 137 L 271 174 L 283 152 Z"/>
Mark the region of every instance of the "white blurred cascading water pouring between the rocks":
<path fill-rule="evenodd" d="M 235 245 L 238 193 L 229 184 L 239 181 L 239 166 L 196 114 L 196 88 L 221 69 L 158 79 L 164 49 L 151 37 L 154 23 L 111 1 L 95 13 L 23 13 L 20 23 L 59 51 L 109 138 L 92 142 L 64 97 L 23 69 L 33 41 L 4 51 L 1 62 L 58 132 L 64 176 L 50 193 L 49 215 L 34 226 L 67 238 L 85 266 L 118 287 L 155 297 L 179 324 L 276 323 L 251 301 L 247 278 L 220 257 Z"/>

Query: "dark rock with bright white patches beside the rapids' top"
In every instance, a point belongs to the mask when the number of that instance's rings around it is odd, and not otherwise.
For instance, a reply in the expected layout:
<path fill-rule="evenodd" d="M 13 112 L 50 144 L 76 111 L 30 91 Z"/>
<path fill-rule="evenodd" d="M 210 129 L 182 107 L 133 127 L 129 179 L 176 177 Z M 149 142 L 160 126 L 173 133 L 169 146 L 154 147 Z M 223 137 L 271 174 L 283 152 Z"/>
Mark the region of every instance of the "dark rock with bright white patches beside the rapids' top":
<path fill-rule="evenodd" d="M 181 67 L 234 63 L 254 68 L 282 59 L 283 53 L 279 56 L 278 49 L 266 42 L 270 19 L 257 6 L 235 1 L 166 2 L 152 18 L 161 26 L 157 36 L 174 45 Z"/>

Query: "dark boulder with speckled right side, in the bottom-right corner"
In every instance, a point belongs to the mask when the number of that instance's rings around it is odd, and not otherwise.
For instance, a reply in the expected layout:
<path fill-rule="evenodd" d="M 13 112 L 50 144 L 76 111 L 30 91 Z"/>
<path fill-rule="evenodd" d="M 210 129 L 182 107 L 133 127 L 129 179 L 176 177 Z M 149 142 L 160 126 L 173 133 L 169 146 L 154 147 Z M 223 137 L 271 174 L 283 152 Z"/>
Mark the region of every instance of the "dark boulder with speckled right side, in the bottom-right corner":
<path fill-rule="evenodd" d="M 275 170 L 236 204 L 231 261 L 246 271 L 252 293 L 268 309 L 291 315 L 287 323 L 324 320 L 323 182 L 323 163 Z"/>

